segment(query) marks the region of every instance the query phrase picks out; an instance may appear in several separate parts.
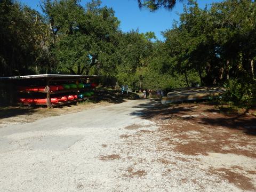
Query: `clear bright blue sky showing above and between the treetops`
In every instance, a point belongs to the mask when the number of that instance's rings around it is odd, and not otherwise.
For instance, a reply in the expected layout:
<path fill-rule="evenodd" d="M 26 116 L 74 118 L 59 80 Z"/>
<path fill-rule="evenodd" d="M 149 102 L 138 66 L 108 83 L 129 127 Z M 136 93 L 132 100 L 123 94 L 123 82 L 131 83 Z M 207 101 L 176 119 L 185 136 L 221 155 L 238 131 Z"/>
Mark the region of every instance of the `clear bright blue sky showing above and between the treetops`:
<path fill-rule="evenodd" d="M 27 4 L 33 9 L 41 12 L 39 6 L 40 0 L 18 0 L 23 4 Z M 82 0 L 81 4 L 85 5 L 90 0 Z M 181 13 L 183 10 L 183 3 L 187 1 L 178 2 L 172 11 L 160 9 L 156 12 L 150 12 L 149 10 L 140 10 L 137 0 L 101 0 L 102 5 L 113 7 L 116 17 L 121 21 L 121 29 L 123 31 L 130 31 L 131 29 L 139 29 L 140 33 L 146 33 L 147 31 L 153 31 L 158 39 L 162 40 L 161 31 L 172 28 L 173 20 L 179 20 L 177 13 Z M 221 0 L 198 0 L 198 4 L 201 8 L 205 7 L 205 4 L 211 4 L 212 2 L 221 2 Z"/>

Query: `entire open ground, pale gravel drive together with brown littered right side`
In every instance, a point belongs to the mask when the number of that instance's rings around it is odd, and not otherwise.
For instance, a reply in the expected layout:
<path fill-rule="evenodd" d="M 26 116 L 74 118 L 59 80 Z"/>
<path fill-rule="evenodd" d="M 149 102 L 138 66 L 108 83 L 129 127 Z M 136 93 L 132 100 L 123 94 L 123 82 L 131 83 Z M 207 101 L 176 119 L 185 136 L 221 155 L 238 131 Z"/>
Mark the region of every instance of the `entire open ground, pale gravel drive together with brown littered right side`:
<path fill-rule="evenodd" d="M 254 117 L 230 129 L 206 106 L 158 105 L 133 100 L 2 126 L 0 191 L 256 190 Z"/>

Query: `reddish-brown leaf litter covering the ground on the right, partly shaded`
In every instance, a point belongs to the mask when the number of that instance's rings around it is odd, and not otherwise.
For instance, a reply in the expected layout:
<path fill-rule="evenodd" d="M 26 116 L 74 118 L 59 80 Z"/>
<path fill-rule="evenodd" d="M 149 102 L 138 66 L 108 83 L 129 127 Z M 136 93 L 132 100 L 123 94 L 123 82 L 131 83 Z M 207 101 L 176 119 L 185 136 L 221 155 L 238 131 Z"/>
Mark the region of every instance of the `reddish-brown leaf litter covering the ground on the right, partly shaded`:
<path fill-rule="evenodd" d="M 157 124 L 159 129 L 154 134 L 159 138 L 158 151 L 173 150 L 186 155 L 187 158 L 177 160 L 187 163 L 193 156 L 198 157 L 199 162 L 202 155 L 207 157 L 209 154 L 235 154 L 241 159 L 256 159 L 255 109 L 230 110 L 227 106 L 220 108 L 209 102 L 161 105 L 152 100 L 152 103 L 154 107 L 143 104 L 133 115 L 139 114 Z M 137 135 L 141 137 L 141 132 Z M 227 165 L 223 164 L 223 167 L 208 169 L 209 174 L 218 175 L 242 190 L 256 190 L 253 184 L 256 167 L 230 167 L 228 160 L 225 161 Z M 233 160 L 230 158 L 230 161 Z M 159 159 L 159 162 L 172 163 L 167 159 Z"/>

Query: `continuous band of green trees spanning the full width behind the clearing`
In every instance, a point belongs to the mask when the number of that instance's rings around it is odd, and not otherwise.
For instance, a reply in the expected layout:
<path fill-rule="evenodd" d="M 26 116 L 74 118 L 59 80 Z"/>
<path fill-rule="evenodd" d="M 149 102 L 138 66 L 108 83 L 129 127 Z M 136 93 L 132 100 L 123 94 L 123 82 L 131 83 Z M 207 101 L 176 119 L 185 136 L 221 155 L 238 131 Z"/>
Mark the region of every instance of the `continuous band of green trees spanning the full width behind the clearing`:
<path fill-rule="evenodd" d="M 136 90 L 225 84 L 240 86 L 238 100 L 253 98 L 254 1 L 227 0 L 205 9 L 188 1 L 180 20 L 163 32 L 165 41 L 150 31 L 124 33 L 113 9 L 100 1 L 83 6 L 78 0 L 44 0 L 41 7 L 43 14 L 0 1 L 1 76 L 97 74 L 103 83 Z"/>

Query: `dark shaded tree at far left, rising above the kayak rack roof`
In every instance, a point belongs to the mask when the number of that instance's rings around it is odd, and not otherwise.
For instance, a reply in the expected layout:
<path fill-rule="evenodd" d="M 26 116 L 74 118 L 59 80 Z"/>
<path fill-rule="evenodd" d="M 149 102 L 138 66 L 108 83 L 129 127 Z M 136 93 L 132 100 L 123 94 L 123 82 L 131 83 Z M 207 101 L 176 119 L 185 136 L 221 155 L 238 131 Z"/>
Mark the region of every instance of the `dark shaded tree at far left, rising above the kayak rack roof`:
<path fill-rule="evenodd" d="M 1 75 L 47 71 L 50 42 L 42 15 L 11 0 L 0 2 L 0 12 Z"/>

